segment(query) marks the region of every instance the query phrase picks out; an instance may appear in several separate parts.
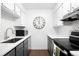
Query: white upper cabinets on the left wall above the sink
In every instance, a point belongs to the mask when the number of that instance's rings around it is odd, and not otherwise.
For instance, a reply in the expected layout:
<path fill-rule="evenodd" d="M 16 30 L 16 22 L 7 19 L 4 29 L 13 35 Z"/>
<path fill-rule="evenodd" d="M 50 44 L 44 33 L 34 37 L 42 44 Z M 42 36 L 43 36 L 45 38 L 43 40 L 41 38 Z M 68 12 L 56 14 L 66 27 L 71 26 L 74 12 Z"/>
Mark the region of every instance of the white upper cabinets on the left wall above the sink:
<path fill-rule="evenodd" d="M 14 3 L 2 3 L 1 14 L 17 19 L 20 17 L 20 8 Z"/>

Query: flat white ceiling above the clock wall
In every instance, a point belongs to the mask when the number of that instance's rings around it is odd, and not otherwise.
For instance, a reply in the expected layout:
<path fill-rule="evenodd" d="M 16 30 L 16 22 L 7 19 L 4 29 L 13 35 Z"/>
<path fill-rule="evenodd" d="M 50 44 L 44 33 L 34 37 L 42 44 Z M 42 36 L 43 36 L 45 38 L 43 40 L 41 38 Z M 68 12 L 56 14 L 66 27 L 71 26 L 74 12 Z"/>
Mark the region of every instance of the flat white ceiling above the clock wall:
<path fill-rule="evenodd" d="M 57 3 L 23 3 L 26 9 L 53 9 Z"/>

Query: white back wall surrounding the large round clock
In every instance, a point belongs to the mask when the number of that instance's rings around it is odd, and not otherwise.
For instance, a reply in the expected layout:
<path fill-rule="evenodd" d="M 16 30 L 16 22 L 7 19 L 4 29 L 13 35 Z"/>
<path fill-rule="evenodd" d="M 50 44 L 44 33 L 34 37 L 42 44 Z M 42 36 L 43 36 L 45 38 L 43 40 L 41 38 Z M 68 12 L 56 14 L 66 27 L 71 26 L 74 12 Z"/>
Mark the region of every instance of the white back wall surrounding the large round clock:
<path fill-rule="evenodd" d="M 47 34 L 53 32 L 53 14 L 50 9 L 29 9 L 26 11 L 26 19 L 23 24 L 26 25 L 31 34 L 31 49 L 47 49 Z M 46 25 L 43 29 L 36 29 L 33 26 L 33 20 L 37 16 L 44 17 Z"/>

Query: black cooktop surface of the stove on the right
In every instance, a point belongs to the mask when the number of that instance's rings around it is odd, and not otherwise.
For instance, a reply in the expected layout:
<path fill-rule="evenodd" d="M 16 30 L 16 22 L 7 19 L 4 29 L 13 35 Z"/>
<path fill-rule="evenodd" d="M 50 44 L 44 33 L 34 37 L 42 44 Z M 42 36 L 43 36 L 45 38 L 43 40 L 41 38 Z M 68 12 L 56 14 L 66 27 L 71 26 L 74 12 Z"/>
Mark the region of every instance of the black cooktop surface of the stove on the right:
<path fill-rule="evenodd" d="M 77 51 L 78 47 L 71 45 L 68 38 L 54 38 L 54 43 L 61 49 L 66 51 Z"/>

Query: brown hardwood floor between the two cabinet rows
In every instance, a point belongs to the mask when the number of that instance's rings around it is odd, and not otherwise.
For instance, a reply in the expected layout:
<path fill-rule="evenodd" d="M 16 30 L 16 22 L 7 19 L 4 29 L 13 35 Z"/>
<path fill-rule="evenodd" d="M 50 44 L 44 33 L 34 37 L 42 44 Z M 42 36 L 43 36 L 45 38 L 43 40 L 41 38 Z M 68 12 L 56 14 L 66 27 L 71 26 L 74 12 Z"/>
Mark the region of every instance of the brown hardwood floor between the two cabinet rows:
<path fill-rule="evenodd" d="M 47 50 L 31 50 L 29 56 L 49 56 Z"/>

